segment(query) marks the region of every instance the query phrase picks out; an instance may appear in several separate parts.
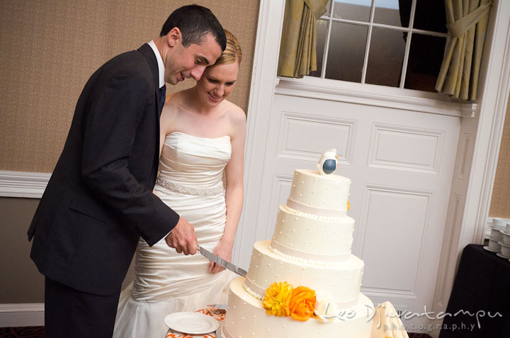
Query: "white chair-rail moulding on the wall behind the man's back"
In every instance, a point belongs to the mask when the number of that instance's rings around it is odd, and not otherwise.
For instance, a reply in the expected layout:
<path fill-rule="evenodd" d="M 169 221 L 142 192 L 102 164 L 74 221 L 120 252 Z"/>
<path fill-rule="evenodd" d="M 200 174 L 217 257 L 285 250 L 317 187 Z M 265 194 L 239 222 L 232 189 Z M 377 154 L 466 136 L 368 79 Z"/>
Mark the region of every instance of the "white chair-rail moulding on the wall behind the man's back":
<path fill-rule="evenodd" d="M 0 197 L 41 198 L 51 174 L 0 170 Z"/>

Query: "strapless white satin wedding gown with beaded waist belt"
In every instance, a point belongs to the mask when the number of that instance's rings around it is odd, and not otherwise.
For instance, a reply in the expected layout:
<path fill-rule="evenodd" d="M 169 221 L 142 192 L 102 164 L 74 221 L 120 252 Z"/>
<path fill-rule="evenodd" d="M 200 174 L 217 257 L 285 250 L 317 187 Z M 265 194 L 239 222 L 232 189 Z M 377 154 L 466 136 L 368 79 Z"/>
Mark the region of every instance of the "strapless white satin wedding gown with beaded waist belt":
<path fill-rule="evenodd" d="M 222 172 L 231 155 L 228 136 L 205 138 L 174 132 L 166 136 L 155 191 L 195 228 L 198 244 L 212 250 L 225 230 Z M 164 239 L 149 247 L 140 238 L 135 279 L 121 294 L 113 337 L 164 338 L 171 312 L 227 304 L 230 271 L 208 272 L 208 259 L 178 254 Z"/>

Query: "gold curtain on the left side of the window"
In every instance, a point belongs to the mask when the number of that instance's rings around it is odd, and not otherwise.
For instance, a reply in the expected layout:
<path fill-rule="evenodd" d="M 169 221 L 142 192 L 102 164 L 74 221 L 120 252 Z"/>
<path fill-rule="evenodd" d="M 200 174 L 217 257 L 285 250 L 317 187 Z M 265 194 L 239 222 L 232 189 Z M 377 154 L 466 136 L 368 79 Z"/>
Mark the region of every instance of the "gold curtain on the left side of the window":
<path fill-rule="evenodd" d="M 328 0 L 287 0 L 278 76 L 301 78 L 317 70 L 317 19 Z"/>

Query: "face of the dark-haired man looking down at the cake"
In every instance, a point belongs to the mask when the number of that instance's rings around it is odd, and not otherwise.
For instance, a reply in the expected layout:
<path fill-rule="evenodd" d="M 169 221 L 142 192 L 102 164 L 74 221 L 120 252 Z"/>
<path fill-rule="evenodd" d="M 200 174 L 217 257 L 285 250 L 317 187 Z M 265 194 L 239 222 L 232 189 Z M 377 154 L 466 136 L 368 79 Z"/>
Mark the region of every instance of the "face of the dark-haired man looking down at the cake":
<path fill-rule="evenodd" d="M 214 64 L 222 52 L 210 33 L 203 37 L 200 45 L 192 43 L 184 47 L 180 39 L 173 49 L 165 62 L 165 81 L 169 84 L 178 84 L 190 77 L 198 81 L 205 68 Z"/>

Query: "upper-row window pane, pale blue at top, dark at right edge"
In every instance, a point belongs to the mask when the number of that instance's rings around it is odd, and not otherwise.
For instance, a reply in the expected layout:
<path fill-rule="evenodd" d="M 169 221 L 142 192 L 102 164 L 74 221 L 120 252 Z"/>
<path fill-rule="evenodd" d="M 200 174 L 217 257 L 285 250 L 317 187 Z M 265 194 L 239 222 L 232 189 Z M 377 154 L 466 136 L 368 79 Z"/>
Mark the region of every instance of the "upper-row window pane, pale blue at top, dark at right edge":
<path fill-rule="evenodd" d="M 374 22 L 409 27 L 412 0 L 375 0 Z"/>

